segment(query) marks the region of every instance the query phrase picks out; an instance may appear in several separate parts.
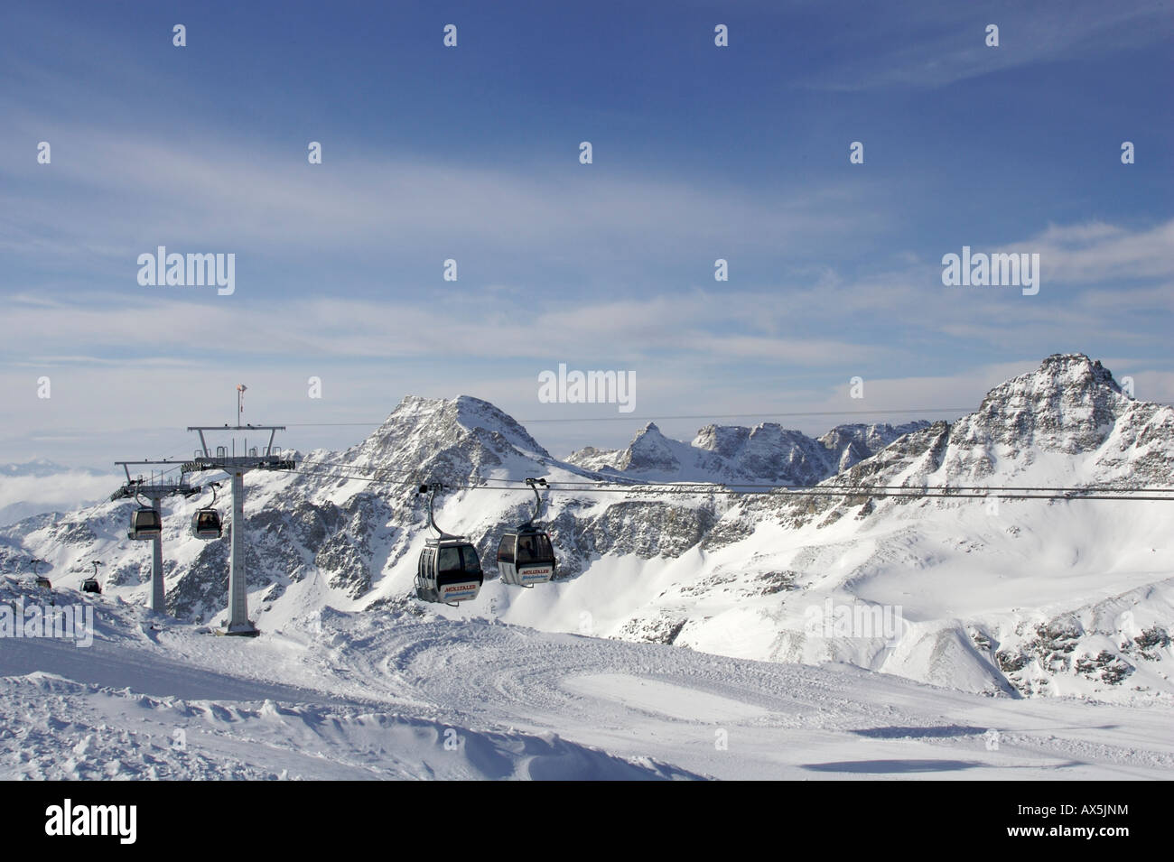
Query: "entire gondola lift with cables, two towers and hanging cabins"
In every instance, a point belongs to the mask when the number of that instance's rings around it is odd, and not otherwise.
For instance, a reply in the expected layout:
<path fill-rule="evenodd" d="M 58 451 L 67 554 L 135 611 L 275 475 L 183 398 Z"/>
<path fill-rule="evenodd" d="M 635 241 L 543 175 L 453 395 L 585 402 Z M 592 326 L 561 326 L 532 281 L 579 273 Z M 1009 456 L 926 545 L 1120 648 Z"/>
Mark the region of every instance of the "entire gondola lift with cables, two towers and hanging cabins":
<path fill-rule="evenodd" d="M 283 430 L 282 426 L 242 426 L 239 422 L 241 394 L 243 386 L 237 386 L 237 425 L 236 426 L 194 426 L 189 430 L 200 434 L 201 450 L 191 461 L 116 461 L 126 473 L 126 483 L 114 494 L 112 501 L 134 500 L 137 503 L 130 514 L 130 528 L 128 538 L 137 541 L 154 541 L 154 554 L 151 565 L 151 602 L 153 610 L 166 612 L 163 590 L 163 565 L 162 565 L 162 507 L 164 497 L 182 496 L 184 498 L 198 495 L 209 484 L 212 489 L 212 501 L 209 505 L 198 507 L 191 516 L 191 534 L 198 539 L 218 539 L 223 537 L 223 520 L 217 509 L 217 488 L 220 482 L 211 482 L 204 487 L 191 486 L 188 482 L 188 474 L 221 471 L 227 473 L 232 478 L 232 507 L 234 524 L 241 529 L 232 530 L 232 548 L 229 555 L 229 596 L 230 596 L 230 620 L 223 633 L 228 634 L 256 634 L 257 629 L 248 618 L 247 606 L 247 579 L 245 579 L 245 556 L 243 544 L 244 531 L 244 508 L 243 508 L 243 474 L 249 470 L 261 469 L 272 473 L 286 473 L 292 476 L 303 476 L 321 480 L 339 480 L 342 482 L 364 482 L 369 486 L 384 488 L 409 488 L 416 489 L 417 495 L 427 495 L 427 524 L 436 536 L 425 539 L 423 550 L 417 561 L 414 576 L 416 596 L 423 602 L 448 604 L 459 606 L 460 603 L 475 599 L 485 583 L 485 573 L 477 551 L 477 547 L 466 537 L 454 535 L 443 530 L 436 521 L 436 497 L 445 490 L 477 491 L 495 490 L 513 491 L 527 488 L 534 494 L 534 510 L 522 523 L 513 528 L 505 528 L 501 531 L 497 548 L 498 570 L 504 584 L 529 589 L 540 583 L 548 583 L 556 573 L 556 557 L 554 545 L 549 534 L 537 523 L 542 511 L 545 502 L 545 490 L 564 491 L 568 495 L 606 494 L 615 496 L 646 495 L 649 497 L 667 496 L 690 496 L 690 497 L 716 497 L 736 496 L 749 497 L 755 495 L 770 495 L 775 501 L 785 501 L 789 497 L 799 497 L 807 501 L 816 497 L 843 498 L 850 504 L 852 501 L 875 498 L 944 498 L 944 500 L 1046 500 L 1046 501 L 1146 501 L 1146 502 L 1174 502 L 1174 488 L 1156 488 L 1149 486 L 1140 487 L 1114 487 L 1114 486 L 1088 486 L 1088 487 L 1046 487 L 1046 486 L 889 486 L 889 484 L 838 484 L 834 477 L 830 482 L 819 484 L 768 484 L 768 483 L 714 483 L 714 482 L 655 482 L 640 481 L 627 476 L 607 476 L 594 470 L 581 470 L 582 478 L 568 478 L 562 482 L 549 481 L 545 477 L 531 477 L 525 480 L 513 480 L 505 477 L 473 477 L 472 480 L 457 481 L 443 484 L 437 481 L 419 482 L 421 470 L 410 470 L 392 467 L 359 467 L 349 464 L 335 459 L 325 457 L 309 462 L 303 459 L 297 463 L 294 450 L 278 449 L 274 447 L 274 435 L 277 430 Z M 953 409 L 953 408 L 951 408 Z M 837 413 L 898 413 L 899 410 L 851 410 L 851 412 L 810 412 L 790 414 L 731 414 L 743 418 L 760 416 L 783 416 L 783 415 L 836 415 Z M 900 410 L 903 412 L 903 410 Z M 929 413 L 931 410 L 919 410 Z M 715 416 L 670 416 L 663 419 L 713 419 Z M 726 416 L 721 416 L 726 418 Z M 609 421 L 620 419 L 623 421 L 645 421 L 645 418 L 619 416 L 606 419 L 580 419 L 580 420 L 524 420 L 527 422 L 540 421 Z M 328 425 L 328 423 L 303 423 Z M 332 425 L 358 425 L 358 423 L 332 423 Z M 217 447 L 216 455 L 212 456 L 204 439 L 204 432 L 251 432 L 268 430 L 269 444 L 263 453 L 258 453 L 258 447 L 248 447 L 242 455 L 230 456 L 223 446 Z M 202 454 L 201 454 L 202 453 Z M 558 467 L 565 462 L 555 459 L 535 456 L 537 461 L 547 467 Z M 131 464 L 147 464 L 160 467 L 160 471 L 154 470 L 150 478 L 139 475 L 130 476 Z M 164 469 L 166 468 L 166 469 Z M 164 481 L 164 477 L 174 471 L 178 471 L 178 478 Z M 359 473 L 370 475 L 357 475 Z M 580 475 L 574 470 L 572 476 Z M 601 476 L 591 480 L 588 476 Z M 411 481 L 405 481 L 410 478 Z M 144 502 L 143 498 L 150 501 Z M 36 561 L 40 562 L 40 561 Z M 87 592 L 101 593 L 101 584 L 97 579 L 99 561 L 93 561 L 94 575 L 88 577 L 82 590 Z M 34 575 L 36 568 L 34 564 Z M 48 581 L 45 579 L 48 585 Z"/>

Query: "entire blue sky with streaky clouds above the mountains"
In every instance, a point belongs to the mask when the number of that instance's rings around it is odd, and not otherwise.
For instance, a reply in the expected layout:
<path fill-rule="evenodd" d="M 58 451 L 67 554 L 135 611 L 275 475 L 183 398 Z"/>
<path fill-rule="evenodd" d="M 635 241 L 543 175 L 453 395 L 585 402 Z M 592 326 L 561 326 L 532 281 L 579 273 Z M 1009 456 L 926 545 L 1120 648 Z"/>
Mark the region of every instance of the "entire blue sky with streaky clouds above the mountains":
<path fill-rule="evenodd" d="M 0 15 L 0 462 L 182 456 L 188 425 L 232 419 L 237 382 L 247 419 L 291 426 L 478 395 L 561 420 L 531 426 L 560 455 L 648 418 L 977 405 L 1054 352 L 1174 400 L 1168 5 Z M 235 253 L 236 292 L 140 286 L 158 245 Z M 963 245 L 1039 252 L 1039 294 L 944 287 Z M 559 362 L 634 372 L 635 410 L 540 403 Z"/>

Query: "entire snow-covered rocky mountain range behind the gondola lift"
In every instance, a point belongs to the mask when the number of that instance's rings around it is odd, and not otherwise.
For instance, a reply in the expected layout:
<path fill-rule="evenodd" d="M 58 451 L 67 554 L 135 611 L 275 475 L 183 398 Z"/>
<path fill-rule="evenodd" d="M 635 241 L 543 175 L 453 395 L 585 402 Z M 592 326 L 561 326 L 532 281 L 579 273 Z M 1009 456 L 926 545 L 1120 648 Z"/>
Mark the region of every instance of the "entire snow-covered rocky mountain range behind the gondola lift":
<path fill-rule="evenodd" d="M 485 401 L 407 396 L 351 449 L 311 453 L 294 474 L 249 475 L 250 610 L 263 630 L 325 606 L 484 616 L 740 658 L 848 661 L 987 694 L 1169 699 L 1168 503 L 621 486 L 666 476 L 1168 487 L 1172 461 L 1174 412 L 1127 398 L 1079 354 L 1050 357 L 952 425 L 842 426 L 818 441 L 769 423 L 710 426 L 691 443 L 649 426 L 619 455 L 583 450 L 573 462 Z M 558 581 L 521 591 L 491 579 L 460 609 L 411 598 L 427 532 L 417 486 L 470 486 L 443 497 L 437 521 L 472 538 L 492 578 L 500 529 L 528 517 L 533 501 L 498 480 L 528 475 L 581 483 L 552 491 L 541 518 Z M 166 509 L 168 608 L 181 619 L 212 622 L 227 604 L 228 543 L 187 531 L 207 502 Z M 76 589 L 100 558 L 110 593 L 141 602 L 149 548 L 124 538 L 130 508 L 102 503 L 0 529 L 0 571 L 25 571 L 39 556 L 55 588 Z"/>

